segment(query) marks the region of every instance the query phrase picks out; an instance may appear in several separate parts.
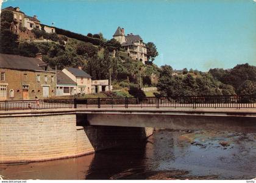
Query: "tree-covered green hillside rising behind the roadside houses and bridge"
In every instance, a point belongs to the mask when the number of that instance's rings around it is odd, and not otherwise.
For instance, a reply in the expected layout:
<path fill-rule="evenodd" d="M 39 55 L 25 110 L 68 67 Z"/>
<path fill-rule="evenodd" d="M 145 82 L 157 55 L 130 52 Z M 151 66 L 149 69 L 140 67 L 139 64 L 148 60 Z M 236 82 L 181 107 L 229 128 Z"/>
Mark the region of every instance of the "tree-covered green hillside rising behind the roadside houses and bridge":
<path fill-rule="evenodd" d="M 127 92 L 130 88 L 127 96 L 140 94 L 141 91 L 137 89 L 145 86 L 157 86 L 162 96 L 256 94 L 256 67 L 249 64 L 227 70 L 215 68 L 208 72 L 188 71 L 185 68 L 177 74 L 168 65 L 158 67 L 132 60 L 118 41 L 106 40 L 102 33 L 88 33 L 85 36 L 58 28 L 56 33 L 46 33 L 43 29 L 33 29 L 31 32 L 21 29 L 21 32 L 32 35 L 27 40 L 12 32 L 12 21 L 13 13 L 2 11 L 1 53 L 25 57 L 35 57 L 41 53 L 43 61 L 52 68 L 57 66 L 57 69 L 82 66 L 93 80 L 111 77 L 114 89 L 126 88 Z M 158 55 L 157 48 L 152 42 L 146 46 L 149 60 L 154 61 Z"/>

